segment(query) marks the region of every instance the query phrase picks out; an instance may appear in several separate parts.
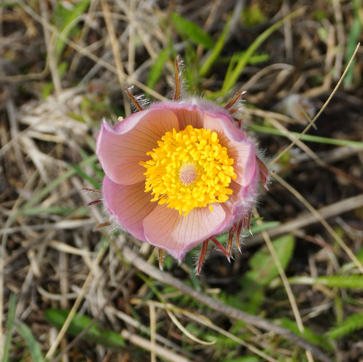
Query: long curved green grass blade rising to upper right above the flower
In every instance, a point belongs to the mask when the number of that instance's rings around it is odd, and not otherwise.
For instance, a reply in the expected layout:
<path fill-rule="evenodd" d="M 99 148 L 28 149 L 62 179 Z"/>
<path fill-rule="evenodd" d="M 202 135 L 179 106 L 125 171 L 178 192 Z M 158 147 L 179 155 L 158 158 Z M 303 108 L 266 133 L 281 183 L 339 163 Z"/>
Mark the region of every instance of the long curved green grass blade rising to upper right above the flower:
<path fill-rule="evenodd" d="M 238 78 L 240 77 L 242 70 L 245 68 L 246 64 L 248 63 L 250 57 L 253 55 L 254 52 L 258 49 L 258 47 L 278 28 L 284 25 L 286 20 L 292 19 L 293 17 L 301 14 L 301 9 L 287 15 L 284 19 L 277 21 L 277 23 L 273 24 L 271 27 L 266 29 L 260 36 L 254 40 L 254 42 L 248 47 L 244 55 L 238 61 L 236 67 L 234 68 L 231 76 L 228 78 L 224 78 L 224 83 L 221 90 L 221 95 L 228 93 L 236 84 Z"/>

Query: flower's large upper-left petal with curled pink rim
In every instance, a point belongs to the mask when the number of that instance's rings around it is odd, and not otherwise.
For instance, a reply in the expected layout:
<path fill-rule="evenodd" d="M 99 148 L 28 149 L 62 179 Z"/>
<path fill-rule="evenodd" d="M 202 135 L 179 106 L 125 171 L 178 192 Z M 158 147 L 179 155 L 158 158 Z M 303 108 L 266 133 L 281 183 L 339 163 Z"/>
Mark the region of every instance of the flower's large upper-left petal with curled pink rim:
<path fill-rule="evenodd" d="M 105 174 L 115 183 L 131 185 L 145 180 L 145 168 L 139 164 L 158 147 L 166 131 L 179 131 L 178 119 L 168 109 L 139 111 L 114 129 L 102 123 L 97 136 L 96 154 Z"/>

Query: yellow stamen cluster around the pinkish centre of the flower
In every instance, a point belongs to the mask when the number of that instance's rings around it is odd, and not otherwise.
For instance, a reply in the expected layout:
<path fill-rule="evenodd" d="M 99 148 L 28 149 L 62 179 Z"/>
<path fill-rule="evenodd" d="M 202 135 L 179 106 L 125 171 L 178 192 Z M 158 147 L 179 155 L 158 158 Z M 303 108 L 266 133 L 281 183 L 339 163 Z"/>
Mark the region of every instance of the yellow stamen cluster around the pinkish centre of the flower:
<path fill-rule="evenodd" d="M 158 148 L 147 152 L 151 160 L 140 162 L 147 171 L 145 192 L 151 200 L 179 210 L 186 216 L 195 207 L 213 211 L 212 203 L 225 202 L 232 194 L 228 188 L 236 179 L 227 148 L 219 143 L 216 132 L 193 128 L 168 131 L 158 141 Z"/>

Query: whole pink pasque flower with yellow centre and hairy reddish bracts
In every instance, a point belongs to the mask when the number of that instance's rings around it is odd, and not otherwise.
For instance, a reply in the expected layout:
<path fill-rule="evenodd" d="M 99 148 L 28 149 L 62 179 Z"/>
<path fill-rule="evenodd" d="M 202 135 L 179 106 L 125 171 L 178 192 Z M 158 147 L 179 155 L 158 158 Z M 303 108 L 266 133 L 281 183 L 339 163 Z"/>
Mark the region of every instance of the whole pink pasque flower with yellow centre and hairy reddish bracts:
<path fill-rule="evenodd" d="M 237 243 L 249 228 L 260 180 L 268 178 L 255 142 L 225 108 L 179 97 L 139 111 L 112 127 L 103 122 L 96 153 L 105 171 L 103 202 L 122 229 L 181 260 L 208 240 L 230 231 Z M 232 236 L 231 236 L 232 234 Z M 239 244 L 237 244 L 239 246 Z M 204 255 L 203 255 L 204 254 Z M 161 256 L 161 253 L 159 254 Z"/>

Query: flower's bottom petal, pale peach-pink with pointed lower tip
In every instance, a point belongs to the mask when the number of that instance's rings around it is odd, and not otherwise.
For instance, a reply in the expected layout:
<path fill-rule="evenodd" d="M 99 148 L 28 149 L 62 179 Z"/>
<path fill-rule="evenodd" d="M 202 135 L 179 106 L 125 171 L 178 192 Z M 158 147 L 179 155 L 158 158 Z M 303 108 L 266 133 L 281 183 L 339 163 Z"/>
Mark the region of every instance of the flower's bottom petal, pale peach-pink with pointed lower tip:
<path fill-rule="evenodd" d="M 225 212 L 218 203 L 213 203 L 213 211 L 209 207 L 195 208 L 185 217 L 164 204 L 156 206 L 143 225 L 148 243 L 181 260 L 189 249 L 215 235 L 224 219 Z"/>

